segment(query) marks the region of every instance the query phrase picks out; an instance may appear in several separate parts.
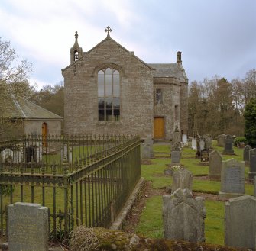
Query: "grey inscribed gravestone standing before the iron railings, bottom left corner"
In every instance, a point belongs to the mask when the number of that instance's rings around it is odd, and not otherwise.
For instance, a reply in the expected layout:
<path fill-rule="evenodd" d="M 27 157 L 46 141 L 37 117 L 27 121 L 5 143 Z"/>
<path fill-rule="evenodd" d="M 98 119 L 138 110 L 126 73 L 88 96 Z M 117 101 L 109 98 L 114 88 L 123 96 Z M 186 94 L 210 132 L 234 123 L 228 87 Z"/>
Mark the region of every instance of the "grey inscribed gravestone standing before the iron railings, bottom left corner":
<path fill-rule="evenodd" d="M 48 251 L 48 208 L 17 202 L 8 205 L 10 251 Z"/>

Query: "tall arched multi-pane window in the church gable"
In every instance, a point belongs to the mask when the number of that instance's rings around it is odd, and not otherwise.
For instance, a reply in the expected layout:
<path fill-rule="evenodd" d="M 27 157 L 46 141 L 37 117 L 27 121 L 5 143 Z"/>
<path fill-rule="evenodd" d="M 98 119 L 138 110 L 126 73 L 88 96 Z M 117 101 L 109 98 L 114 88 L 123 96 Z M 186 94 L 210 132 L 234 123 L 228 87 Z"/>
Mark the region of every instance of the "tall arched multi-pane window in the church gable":
<path fill-rule="evenodd" d="M 98 72 L 98 114 L 99 121 L 120 119 L 120 75 L 116 69 Z"/>

